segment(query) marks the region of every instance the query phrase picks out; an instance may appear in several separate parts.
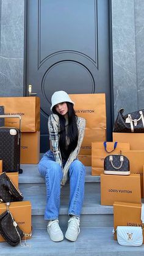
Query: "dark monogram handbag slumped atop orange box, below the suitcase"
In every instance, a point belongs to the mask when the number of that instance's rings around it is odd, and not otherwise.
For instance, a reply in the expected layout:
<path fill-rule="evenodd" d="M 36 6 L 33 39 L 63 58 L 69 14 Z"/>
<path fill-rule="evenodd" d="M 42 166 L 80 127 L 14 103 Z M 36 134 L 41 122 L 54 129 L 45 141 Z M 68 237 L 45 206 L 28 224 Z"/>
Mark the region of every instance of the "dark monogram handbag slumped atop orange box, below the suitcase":
<path fill-rule="evenodd" d="M 23 200 L 23 195 L 15 187 L 5 172 L 0 175 L 0 202 L 19 202 Z"/>

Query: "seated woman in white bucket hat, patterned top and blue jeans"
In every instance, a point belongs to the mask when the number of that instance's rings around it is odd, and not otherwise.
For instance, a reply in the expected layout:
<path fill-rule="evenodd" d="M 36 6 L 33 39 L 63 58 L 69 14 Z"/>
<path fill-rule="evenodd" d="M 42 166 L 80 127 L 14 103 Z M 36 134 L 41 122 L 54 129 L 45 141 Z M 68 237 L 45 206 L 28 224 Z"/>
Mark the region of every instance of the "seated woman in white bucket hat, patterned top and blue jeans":
<path fill-rule="evenodd" d="M 52 95 L 48 130 L 50 150 L 45 153 L 38 169 L 46 181 L 45 219 L 52 241 L 62 241 L 59 227 L 60 187 L 70 179 L 70 202 L 68 207 L 68 229 L 65 237 L 76 241 L 79 235 L 79 218 L 84 199 L 85 167 L 77 159 L 84 138 L 85 119 L 77 117 L 73 101 L 67 92 Z"/>

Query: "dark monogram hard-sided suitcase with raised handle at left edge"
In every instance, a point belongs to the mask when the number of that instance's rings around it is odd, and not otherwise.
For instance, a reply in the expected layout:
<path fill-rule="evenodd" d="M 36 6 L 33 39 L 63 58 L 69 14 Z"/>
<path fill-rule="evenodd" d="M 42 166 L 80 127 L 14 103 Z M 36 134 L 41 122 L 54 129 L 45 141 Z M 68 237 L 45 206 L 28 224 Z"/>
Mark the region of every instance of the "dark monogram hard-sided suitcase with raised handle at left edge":
<path fill-rule="evenodd" d="M 20 115 L 0 115 L 1 118 L 13 117 L 20 119 Z M 20 172 L 20 130 L 13 127 L 0 127 L 0 159 L 2 172 Z"/>

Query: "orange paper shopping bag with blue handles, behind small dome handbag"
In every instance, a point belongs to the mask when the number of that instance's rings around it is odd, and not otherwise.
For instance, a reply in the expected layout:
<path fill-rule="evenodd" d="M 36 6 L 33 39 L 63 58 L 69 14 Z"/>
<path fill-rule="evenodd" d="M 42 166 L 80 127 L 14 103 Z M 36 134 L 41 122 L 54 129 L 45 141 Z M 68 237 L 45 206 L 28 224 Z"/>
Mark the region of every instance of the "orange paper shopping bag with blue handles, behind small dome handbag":
<path fill-rule="evenodd" d="M 122 150 L 129 150 L 128 142 L 117 142 L 114 149 L 115 142 L 106 142 L 106 150 L 104 142 L 92 142 L 92 175 L 101 175 L 104 172 L 104 158 L 110 154 L 120 154 Z M 126 149 L 127 148 L 127 149 Z M 108 153 L 109 152 L 109 153 Z"/>

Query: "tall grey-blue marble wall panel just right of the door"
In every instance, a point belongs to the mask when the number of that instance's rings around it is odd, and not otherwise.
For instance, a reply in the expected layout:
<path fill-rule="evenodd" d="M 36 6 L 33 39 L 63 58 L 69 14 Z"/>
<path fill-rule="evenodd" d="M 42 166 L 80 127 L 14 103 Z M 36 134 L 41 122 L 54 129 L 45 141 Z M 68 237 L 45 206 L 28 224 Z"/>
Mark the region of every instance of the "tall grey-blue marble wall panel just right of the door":
<path fill-rule="evenodd" d="M 120 108 L 137 109 L 135 15 L 133 0 L 112 0 L 113 97 Z"/>

